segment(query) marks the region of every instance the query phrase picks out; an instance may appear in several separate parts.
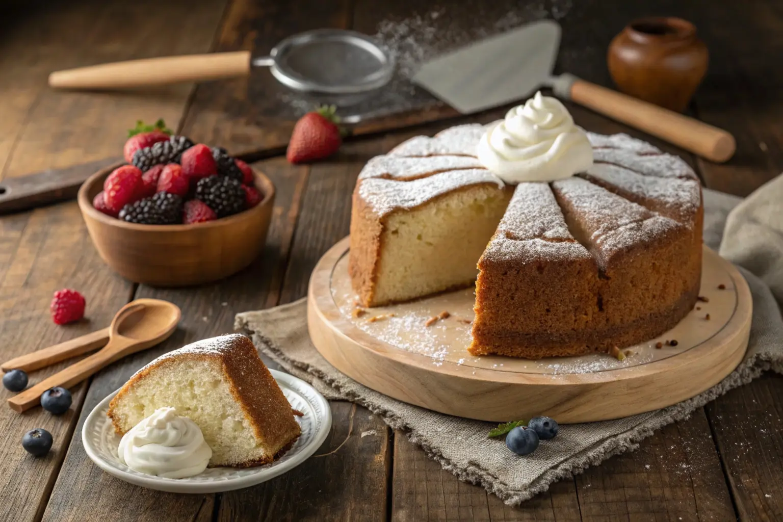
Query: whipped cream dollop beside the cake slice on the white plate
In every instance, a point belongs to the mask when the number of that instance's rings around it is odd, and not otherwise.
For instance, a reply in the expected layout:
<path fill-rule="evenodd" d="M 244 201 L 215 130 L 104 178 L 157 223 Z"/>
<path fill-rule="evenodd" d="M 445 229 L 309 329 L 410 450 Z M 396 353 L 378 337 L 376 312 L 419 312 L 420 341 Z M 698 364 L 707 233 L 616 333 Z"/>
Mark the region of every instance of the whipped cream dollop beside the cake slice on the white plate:
<path fill-rule="evenodd" d="M 160 408 L 122 436 L 120 462 L 166 478 L 193 477 L 207 469 L 212 450 L 192 420 Z"/>

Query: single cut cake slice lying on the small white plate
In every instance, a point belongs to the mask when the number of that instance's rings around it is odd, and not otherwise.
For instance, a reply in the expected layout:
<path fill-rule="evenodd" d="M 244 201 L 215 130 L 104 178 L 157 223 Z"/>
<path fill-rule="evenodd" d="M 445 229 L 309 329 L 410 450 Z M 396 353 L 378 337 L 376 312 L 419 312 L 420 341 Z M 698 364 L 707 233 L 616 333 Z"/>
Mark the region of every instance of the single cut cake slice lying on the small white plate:
<path fill-rule="evenodd" d="M 161 355 L 125 383 L 107 414 L 124 434 L 164 407 L 197 424 L 212 449 L 210 466 L 271 463 L 301 434 L 283 391 L 240 334 Z"/>

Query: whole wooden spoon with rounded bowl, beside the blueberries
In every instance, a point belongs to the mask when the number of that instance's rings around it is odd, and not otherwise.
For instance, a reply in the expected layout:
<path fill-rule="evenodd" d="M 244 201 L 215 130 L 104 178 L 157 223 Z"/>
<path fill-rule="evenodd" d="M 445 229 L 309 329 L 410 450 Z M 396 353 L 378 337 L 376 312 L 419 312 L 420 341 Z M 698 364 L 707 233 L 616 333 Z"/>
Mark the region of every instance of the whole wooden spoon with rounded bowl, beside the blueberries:
<path fill-rule="evenodd" d="M 24 412 L 38 405 L 41 394 L 49 388 L 72 387 L 125 355 L 160 343 L 174 332 L 181 316 L 179 307 L 168 301 L 137 299 L 126 304 L 109 326 L 109 343 L 105 347 L 9 398 L 8 405 Z"/>

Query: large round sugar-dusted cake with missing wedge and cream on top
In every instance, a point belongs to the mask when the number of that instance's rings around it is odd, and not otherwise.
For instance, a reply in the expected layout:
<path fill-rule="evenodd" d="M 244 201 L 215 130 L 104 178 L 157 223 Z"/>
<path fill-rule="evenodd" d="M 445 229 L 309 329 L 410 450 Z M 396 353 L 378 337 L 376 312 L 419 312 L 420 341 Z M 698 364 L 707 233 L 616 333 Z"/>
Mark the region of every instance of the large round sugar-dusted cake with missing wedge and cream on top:
<path fill-rule="evenodd" d="M 693 308 L 702 220 L 683 160 L 585 132 L 536 95 L 503 121 L 370 160 L 349 273 L 368 307 L 475 280 L 473 355 L 581 355 L 648 340 Z"/>

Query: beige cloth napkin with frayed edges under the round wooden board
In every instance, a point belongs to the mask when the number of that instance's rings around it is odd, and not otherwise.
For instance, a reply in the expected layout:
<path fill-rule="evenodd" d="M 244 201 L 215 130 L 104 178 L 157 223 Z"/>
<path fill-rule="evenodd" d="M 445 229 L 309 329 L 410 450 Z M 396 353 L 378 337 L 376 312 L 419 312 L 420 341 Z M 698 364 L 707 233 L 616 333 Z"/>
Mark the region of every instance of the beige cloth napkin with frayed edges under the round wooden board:
<path fill-rule="evenodd" d="M 411 441 L 461 480 L 482 484 L 507 504 L 517 504 L 586 466 L 633 450 L 654 430 L 687 418 L 695 409 L 748 383 L 763 370 L 783 369 L 783 320 L 770 292 L 771 287 L 778 300 L 783 299 L 783 176 L 745 201 L 709 190 L 705 190 L 704 198 L 705 243 L 716 250 L 720 245 L 721 255 L 741 265 L 753 295 L 750 344 L 744 361 L 712 389 L 669 408 L 563 426 L 554 444 L 540 445 L 524 459 L 509 452 L 502 440 L 487 439 L 493 427 L 490 423 L 446 416 L 397 401 L 338 372 L 310 342 L 304 299 L 236 315 L 236 329 L 251 334 L 266 355 L 312 383 L 327 398 L 365 406 L 389 426 L 406 430 Z"/>

